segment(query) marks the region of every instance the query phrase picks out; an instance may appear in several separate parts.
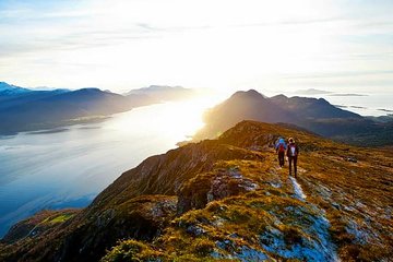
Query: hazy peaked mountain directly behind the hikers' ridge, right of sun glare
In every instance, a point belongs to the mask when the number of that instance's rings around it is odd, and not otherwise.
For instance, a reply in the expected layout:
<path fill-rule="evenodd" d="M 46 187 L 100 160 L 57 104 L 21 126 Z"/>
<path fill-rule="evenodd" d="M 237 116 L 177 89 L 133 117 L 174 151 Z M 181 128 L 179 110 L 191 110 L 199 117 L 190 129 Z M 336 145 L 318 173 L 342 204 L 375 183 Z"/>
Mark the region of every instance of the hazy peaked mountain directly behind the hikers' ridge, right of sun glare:
<path fill-rule="evenodd" d="M 237 92 L 207 110 L 205 127 L 194 140 L 215 138 L 241 120 L 283 122 L 320 135 L 357 145 L 393 144 L 393 122 L 377 122 L 343 110 L 323 98 L 265 97 L 257 91 Z"/>

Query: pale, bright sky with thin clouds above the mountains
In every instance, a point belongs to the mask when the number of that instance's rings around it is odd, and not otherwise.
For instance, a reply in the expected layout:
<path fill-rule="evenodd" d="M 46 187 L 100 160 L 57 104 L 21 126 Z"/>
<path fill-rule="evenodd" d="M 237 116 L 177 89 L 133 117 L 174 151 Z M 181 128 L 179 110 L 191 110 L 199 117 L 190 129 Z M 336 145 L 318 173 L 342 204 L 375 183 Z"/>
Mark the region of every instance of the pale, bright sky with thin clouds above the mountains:
<path fill-rule="evenodd" d="M 0 81 L 393 93 L 392 0 L 0 0 Z"/>

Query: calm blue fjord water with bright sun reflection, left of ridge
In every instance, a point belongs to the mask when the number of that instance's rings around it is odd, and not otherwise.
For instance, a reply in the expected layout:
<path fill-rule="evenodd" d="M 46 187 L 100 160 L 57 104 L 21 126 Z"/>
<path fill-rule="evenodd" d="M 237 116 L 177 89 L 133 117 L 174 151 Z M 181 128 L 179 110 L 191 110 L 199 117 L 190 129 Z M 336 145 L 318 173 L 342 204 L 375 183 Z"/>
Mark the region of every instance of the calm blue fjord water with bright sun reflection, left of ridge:
<path fill-rule="evenodd" d="M 39 210 L 85 206 L 122 171 L 192 135 L 212 103 L 159 104 L 100 123 L 0 139 L 0 236 Z"/>

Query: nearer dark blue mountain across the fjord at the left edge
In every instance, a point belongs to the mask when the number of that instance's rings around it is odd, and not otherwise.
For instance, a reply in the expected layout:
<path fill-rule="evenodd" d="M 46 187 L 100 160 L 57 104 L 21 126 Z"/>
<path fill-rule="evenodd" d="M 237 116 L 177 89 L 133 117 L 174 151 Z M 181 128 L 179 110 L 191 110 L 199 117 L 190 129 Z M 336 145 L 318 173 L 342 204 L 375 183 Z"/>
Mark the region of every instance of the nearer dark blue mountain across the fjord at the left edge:
<path fill-rule="evenodd" d="M 115 112 L 147 105 L 146 97 L 124 97 L 98 88 L 73 92 L 34 92 L 8 97 L 0 106 L 0 133 L 13 133 L 99 119 Z"/>

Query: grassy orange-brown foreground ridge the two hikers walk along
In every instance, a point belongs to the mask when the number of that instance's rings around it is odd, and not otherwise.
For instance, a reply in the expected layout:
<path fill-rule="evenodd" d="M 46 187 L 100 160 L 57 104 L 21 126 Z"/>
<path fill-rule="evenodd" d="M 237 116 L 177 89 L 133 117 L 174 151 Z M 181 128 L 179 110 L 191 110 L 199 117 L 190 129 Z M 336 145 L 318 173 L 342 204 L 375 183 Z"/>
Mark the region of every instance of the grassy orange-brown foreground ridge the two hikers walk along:
<path fill-rule="evenodd" d="M 273 144 L 293 136 L 298 178 Z M 3 261 L 389 261 L 390 150 L 242 121 L 216 140 L 148 157 L 86 209 L 41 212 L 0 245 Z"/>

